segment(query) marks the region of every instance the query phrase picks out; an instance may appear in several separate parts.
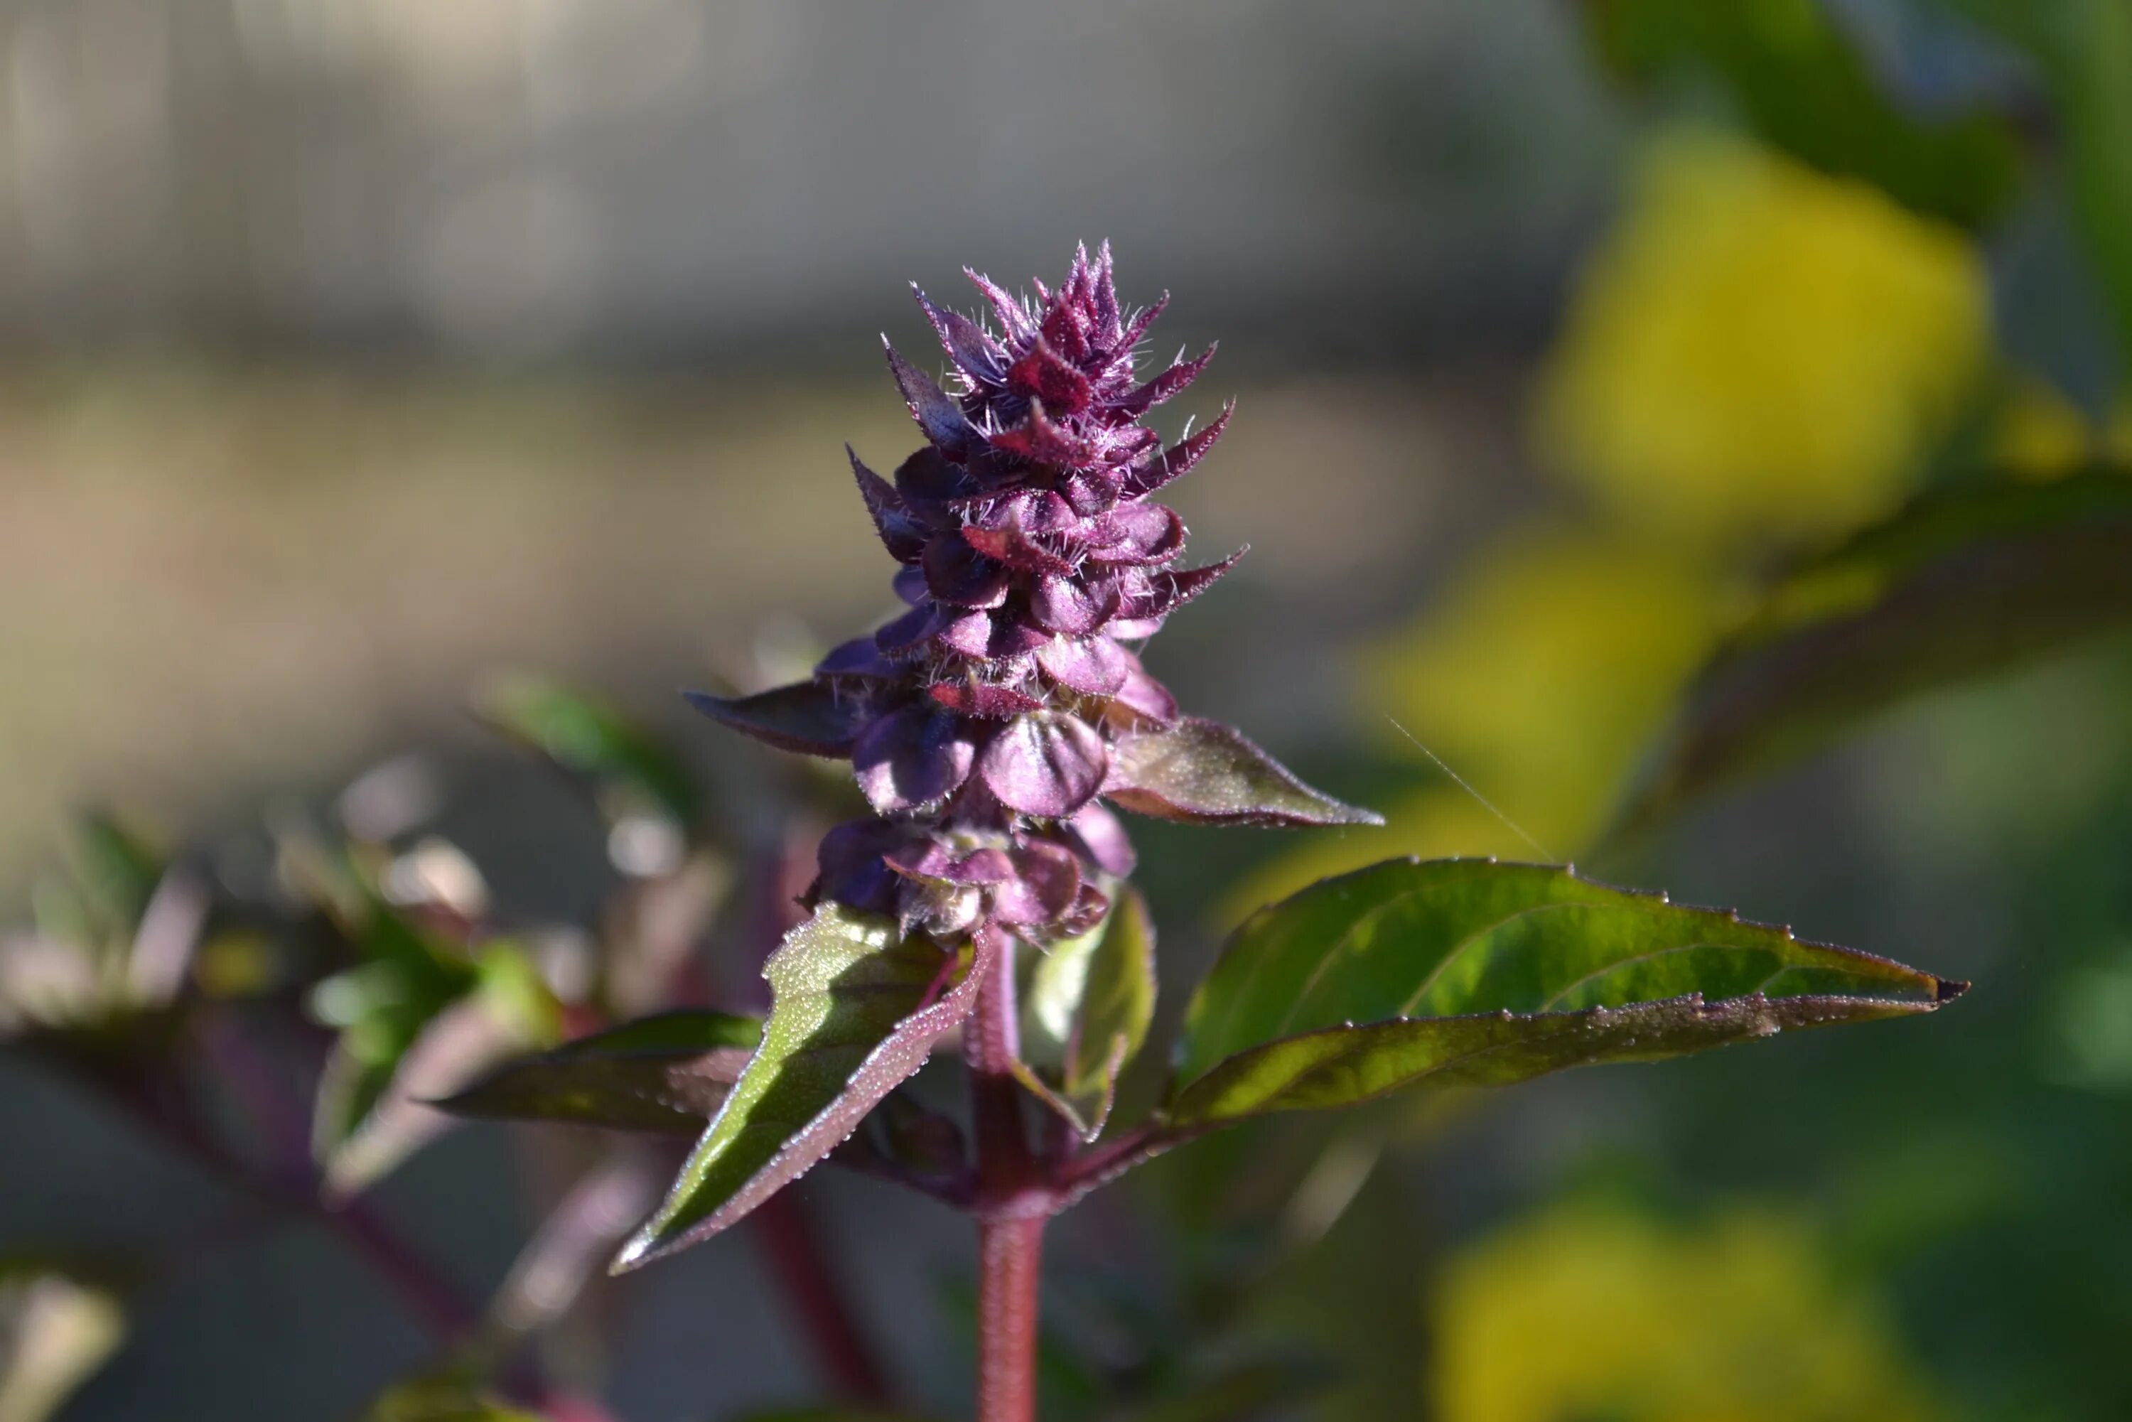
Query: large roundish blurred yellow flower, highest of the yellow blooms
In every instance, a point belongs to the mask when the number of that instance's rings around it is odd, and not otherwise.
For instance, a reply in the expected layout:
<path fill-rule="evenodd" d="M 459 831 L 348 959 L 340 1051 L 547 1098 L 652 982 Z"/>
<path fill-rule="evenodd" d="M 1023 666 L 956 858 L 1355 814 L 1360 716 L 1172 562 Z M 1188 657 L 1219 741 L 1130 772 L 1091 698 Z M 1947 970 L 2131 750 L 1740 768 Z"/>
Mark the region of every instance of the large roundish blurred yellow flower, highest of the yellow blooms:
<path fill-rule="evenodd" d="M 1674 136 L 1580 279 L 1539 439 L 1635 527 L 1840 531 L 1906 492 L 1989 343 L 1955 228 L 1744 141 Z"/>

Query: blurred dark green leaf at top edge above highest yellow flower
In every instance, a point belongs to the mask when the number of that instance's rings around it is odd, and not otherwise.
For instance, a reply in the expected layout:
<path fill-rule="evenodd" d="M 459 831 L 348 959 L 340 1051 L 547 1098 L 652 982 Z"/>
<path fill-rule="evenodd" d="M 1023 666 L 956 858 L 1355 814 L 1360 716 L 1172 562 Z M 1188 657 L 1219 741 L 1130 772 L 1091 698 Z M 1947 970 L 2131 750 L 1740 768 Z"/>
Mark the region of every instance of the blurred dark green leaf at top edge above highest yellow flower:
<path fill-rule="evenodd" d="M 2021 151 L 2006 119 L 1904 113 L 1814 0 L 1593 0 L 1584 15 L 1616 72 L 1633 81 L 1714 75 L 1761 139 L 1825 173 L 1866 179 L 1915 211 L 1983 226 L 2019 181 Z"/>

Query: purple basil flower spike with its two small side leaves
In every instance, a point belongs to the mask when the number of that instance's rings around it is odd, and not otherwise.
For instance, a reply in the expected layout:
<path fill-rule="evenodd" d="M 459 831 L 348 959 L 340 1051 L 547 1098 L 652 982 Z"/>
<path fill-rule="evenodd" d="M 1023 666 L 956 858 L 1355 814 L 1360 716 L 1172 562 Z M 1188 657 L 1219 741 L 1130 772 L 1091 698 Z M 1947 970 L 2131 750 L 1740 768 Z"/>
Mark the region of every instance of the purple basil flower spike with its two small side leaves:
<path fill-rule="evenodd" d="M 1232 405 L 1173 446 L 1141 422 L 1213 348 L 1141 373 L 1134 352 L 1168 296 L 1119 305 L 1109 243 L 1034 301 L 968 275 L 983 316 L 912 288 L 944 382 L 887 350 L 925 443 L 893 475 L 851 454 L 908 610 L 808 682 L 691 697 L 774 746 L 851 757 L 883 819 L 823 840 L 810 898 L 891 912 L 906 932 L 996 923 L 1045 942 L 1100 921 L 1104 885 L 1132 872 L 1102 797 L 1194 823 L 1377 823 L 1183 716 L 1124 646 L 1241 556 L 1181 567 L 1185 524 L 1151 501 L 1207 456 Z"/>

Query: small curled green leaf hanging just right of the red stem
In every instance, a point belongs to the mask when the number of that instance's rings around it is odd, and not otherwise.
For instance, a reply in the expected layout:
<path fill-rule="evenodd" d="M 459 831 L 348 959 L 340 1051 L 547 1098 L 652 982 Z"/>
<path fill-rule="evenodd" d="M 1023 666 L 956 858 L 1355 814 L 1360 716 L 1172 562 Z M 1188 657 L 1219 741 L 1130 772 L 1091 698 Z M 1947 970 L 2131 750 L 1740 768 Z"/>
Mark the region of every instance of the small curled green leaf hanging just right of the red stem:
<path fill-rule="evenodd" d="M 1051 944 L 1030 972 L 1015 1074 L 1085 1141 L 1102 1134 L 1117 1077 L 1156 1015 L 1156 925 L 1136 889 L 1087 934 Z"/>

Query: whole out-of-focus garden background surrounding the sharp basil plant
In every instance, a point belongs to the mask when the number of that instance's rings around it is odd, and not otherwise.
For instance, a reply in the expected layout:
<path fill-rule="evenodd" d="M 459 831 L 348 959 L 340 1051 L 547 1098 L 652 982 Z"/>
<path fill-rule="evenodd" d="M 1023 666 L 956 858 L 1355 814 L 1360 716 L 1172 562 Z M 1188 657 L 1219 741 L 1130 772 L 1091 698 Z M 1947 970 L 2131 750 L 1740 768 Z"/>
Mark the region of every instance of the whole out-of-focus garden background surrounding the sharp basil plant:
<path fill-rule="evenodd" d="M 849 787 L 672 689 L 889 601 L 836 443 L 912 443 L 900 284 L 1104 235 L 1241 392 L 1179 505 L 1254 554 L 1160 672 L 1388 817 L 1147 827 L 1168 981 L 1495 853 L 1978 989 L 1166 1158 L 1060 1226 L 1045 1416 L 2132 1413 L 2121 0 L 9 0 L 0 55 L 0 1422 L 955 1416 L 959 1222 L 821 1170 L 610 1283 L 665 1143 L 422 1102 L 759 1004 Z"/>

